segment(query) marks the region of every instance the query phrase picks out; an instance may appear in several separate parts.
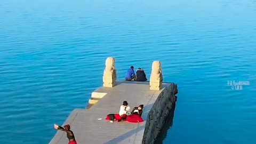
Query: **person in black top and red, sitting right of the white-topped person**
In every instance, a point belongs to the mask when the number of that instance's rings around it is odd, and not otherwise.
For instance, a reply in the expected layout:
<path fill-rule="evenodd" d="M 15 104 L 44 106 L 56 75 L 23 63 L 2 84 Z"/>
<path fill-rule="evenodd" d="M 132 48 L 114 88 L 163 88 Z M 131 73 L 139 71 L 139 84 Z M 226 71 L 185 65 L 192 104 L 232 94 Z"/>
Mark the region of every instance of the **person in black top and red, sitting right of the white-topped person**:
<path fill-rule="evenodd" d="M 143 105 L 140 105 L 139 107 L 134 107 L 131 112 L 131 115 L 128 115 L 126 117 L 126 121 L 131 123 L 143 122 L 143 119 L 141 118 L 142 109 L 143 109 Z"/>

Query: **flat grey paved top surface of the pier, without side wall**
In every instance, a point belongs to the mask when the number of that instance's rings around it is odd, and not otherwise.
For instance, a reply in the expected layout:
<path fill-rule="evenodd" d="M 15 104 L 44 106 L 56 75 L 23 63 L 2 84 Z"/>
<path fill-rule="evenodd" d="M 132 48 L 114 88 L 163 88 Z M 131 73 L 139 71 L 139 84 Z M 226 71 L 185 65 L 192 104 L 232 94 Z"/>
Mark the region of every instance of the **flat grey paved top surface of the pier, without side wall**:
<path fill-rule="evenodd" d="M 105 96 L 90 108 L 75 109 L 64 124 L 71 126 L 78 144 L 140 144 L 149 111 L 159 94 L 170 85 L 171 83 L 163 83 L 159 91 L 149 90 L 149 82 L 124 81 L 117 82 L 114 87 L 100 87 L 94 94 Z M 142 118 L 145 122 L 110 123 L 105 120 L 108 114 L 119 113 L 124 100 L 129 103 L 131 110 L 140 104 L 144 105 Z M 66 133 L 58 131 L 49 144 L 66 143 Z"/>

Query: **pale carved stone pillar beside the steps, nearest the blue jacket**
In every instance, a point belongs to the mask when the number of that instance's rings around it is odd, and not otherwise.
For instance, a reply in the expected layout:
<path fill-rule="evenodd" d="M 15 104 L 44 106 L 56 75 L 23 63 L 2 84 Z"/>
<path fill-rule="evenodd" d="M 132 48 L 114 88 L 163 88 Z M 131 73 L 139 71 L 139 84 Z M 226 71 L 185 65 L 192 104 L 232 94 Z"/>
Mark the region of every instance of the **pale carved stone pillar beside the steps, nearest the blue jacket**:
<path fill-rule="evenodd" d="M 106 67 L 103 73 L 103 87 L 114 87 L 116 85 L 115 58 L 108 57 L 105 65 Z"/>

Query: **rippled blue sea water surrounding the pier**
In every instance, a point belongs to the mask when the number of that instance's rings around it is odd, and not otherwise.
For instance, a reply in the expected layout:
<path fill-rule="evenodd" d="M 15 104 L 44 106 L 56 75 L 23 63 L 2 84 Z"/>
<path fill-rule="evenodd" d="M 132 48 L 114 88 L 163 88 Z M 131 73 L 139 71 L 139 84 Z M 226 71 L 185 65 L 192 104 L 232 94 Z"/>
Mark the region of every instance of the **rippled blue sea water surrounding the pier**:
<path fill-rule="evenodd" d="M 256 1 L 2 0 L 0 140 L 48 143 L 102 85 L 162 62 L 179 93 L 167 143 L 254 144 Z M 249 81 L 235 90 L 228 81 Z"/>

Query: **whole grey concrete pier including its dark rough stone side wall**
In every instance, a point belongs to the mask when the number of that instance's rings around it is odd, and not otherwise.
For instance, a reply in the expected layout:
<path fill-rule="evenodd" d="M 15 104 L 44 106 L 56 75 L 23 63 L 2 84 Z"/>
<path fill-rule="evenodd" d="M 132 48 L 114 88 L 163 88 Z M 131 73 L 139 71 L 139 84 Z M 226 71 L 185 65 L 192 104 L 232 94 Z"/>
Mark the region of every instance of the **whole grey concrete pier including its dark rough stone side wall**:
<path fill-rule="evenodd" d="M 109 59 L 108 59 L 109 61 Z M 112 71 L 115 74 L 113 59 Z M 156 64 L 153 64 L 154 67 Z M 159 65 L 158 65 L 159 66 Z M 106 62 L 107 67 L 107 62 Z M 111 67 L 110 70 L 111 70 Z M 106 70 L 106 69 L 105 69 Z M 157 73 L 157 70 L 154 71 Z M 177 85 L 162 82 L 160 78 L 151 78 L 152 82 L 121 81 L 116 82 L 116 76 L 110 77 L 110 83 L 103 80 L 104 85 L 92 92 L 89 107 L 75 109 L 64 124 L 69 124 L 75 134 L 78 144 L 140 144 L 154 143 L 161 132 L 167 116 L 175 103 L 175 94 L 178 93 Z M 111 79 L 112 78 L 112 79 Z M 160 79 L 160 81 L 159 81 Z M 114 80 L 114 81 L 113 81 Z M 159 84 L 161 83 L 161 84 Z M 155 90 L 154 90 L 155 87 Z M 158 89 L 158 90 L 157 90 Z M 126 121 L 110 123 L 105 118 L 108 114 L 118 113 L 123 101 L 129 103 L 131 109 L 141 104 L 144 105 L 142 123 L 129 123 Z M 64 125 L 63 124 L 63 125 Z M 57 131 L 50 144 L 68 143 L 66 133 Z"/>

